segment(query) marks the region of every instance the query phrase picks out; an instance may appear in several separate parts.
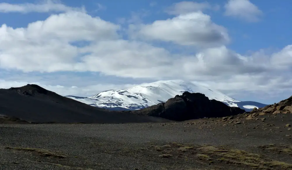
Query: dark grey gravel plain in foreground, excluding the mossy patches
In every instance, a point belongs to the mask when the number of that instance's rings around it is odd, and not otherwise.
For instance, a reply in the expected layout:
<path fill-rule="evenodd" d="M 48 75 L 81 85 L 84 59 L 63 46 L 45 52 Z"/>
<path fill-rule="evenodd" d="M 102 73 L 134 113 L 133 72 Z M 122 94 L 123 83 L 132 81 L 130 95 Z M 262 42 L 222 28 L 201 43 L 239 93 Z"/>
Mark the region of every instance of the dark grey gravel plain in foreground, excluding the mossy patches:
<path fill-rule="evenodd" d="M 257 146 L 266 144 L 291 145 L 292 130 L 285 127 L 291 116 L 283 120 L 269 118 L 245 121 L 239 125 L 229 123 L 212 124 L 206 119 L 193 125 L 185 123 L 136 123 L 136 124 L 0 124 L 0 169 L 251 169 L 234 165 L 206 164 L 187 157 L 161 158 L 151 145 L 162 146 L 171 142 L 194 143 L 196 145 L 224 145 L 248 152 L 261 152 Z M 275 125 L 268 126 L 267 123 Z M 258 126 L 257 126 L 258 125 Z M 268 129 L 265 129 L 267 126 Z M 256 129 L 253 129 L 255 127 Z M 276 128 L 279 127 L 279 128 Z M 281 132 L 280 132 L 281 131 Z M 5 147 L 37 148 L 60 152 L 66 156 L 42 157 L 25 149 Z M 279 161 L 291 159 L 271 156 Z M 270 167 L 281 169 L 280 167 Z"/>

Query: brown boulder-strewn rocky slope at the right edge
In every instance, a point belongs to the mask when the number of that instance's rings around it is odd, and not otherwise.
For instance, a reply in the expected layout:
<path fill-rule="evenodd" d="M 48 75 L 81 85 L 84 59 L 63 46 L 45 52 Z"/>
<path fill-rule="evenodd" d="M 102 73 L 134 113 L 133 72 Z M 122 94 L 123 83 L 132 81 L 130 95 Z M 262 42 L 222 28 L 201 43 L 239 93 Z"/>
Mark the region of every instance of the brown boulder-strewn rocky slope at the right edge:
<path fill-rule="evenodd" d="M 267 105 L 259 109 L 255 108 L 251 112 L 248 112 L 246 119 L 253 119 L 258 115 L 265 115 L 269 113 L 270 114 L 292 113 L 292 96 L 276 104 Z"/>

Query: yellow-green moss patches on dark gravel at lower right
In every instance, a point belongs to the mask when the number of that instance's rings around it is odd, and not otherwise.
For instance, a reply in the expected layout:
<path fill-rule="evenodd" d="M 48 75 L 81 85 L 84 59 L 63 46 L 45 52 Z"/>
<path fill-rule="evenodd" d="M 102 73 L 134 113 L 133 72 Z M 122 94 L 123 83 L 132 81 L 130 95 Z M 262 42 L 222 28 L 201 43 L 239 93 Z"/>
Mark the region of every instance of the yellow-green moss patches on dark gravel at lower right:
<path fill-rule="evenodd" d="M 222 164 L 234 164 L 234 166 L 239 167 L 248 166 L 251 169 L 292 169 L 292 164 L 278 160 L 270 160 L 262 154 L 250 153 L 245 150 L 229 148 L 227 146 L 169 143 L 164 146 L 151 145 L 150 148 L 158 152 L 157 154 L 159 157 L 167 159 L 184 158 L 187 161 L 199 160 L 203 163 L 217 164 L 219 166 Z M 275 147 L 273 145 L 267 145 L 259 146 L 259 148 L 265 148 L 275 152 L 292 153 L 291 146 Z"/>

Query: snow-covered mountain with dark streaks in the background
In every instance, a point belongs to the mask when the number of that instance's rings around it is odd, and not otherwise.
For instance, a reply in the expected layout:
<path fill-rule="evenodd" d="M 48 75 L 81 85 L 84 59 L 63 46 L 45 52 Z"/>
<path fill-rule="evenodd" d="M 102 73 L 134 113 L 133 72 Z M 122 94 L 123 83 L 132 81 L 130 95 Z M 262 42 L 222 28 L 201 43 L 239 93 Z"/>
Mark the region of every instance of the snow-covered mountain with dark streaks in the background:
<path fill-rule="evenodd" d="M 266 106 L 265 104 L 253 101 L 238 101 L 203 85 L 183 80 L 157 81 L 141 84 L 129 89 L 107 90 L 91 97 L 66 97 L 92 106 L 109 108 L 111 110 L 135 110 L 165 102 L 169 98 L 173 98 L 177 94 L 180 95 L 185 91 L 191 93 L 199 92 L 205 94 L 209 99 L 222 101 L 228 106 L 237 106 L 246 111 L 254 107 Z"/>

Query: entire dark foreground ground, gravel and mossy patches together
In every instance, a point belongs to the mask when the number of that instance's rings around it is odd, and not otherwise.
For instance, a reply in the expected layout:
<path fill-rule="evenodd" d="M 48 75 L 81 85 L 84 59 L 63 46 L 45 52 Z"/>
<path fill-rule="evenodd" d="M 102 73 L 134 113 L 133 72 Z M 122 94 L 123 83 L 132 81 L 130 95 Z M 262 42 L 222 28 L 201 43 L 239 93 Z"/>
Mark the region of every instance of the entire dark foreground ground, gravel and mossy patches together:
<path fill-rule="evenodd" d="M 0 169 L 292 169 L 291 118 L 1 124 Z"/>

